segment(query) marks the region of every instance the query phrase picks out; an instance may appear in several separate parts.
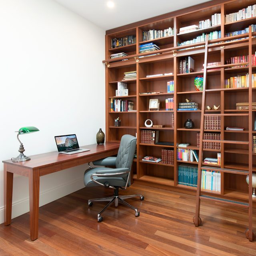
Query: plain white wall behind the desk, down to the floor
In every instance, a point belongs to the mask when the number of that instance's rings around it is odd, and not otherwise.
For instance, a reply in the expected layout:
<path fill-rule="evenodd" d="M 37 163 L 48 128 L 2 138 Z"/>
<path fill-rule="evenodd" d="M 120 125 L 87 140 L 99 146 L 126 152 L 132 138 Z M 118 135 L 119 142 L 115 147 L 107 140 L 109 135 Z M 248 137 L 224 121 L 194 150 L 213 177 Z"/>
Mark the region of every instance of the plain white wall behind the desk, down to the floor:
<path fill-rule="evenodd" d="M 104 31 L 52 0 L 0 0 L 0 223 L 2 160 L 18 156 L 16 131 L 30 156 L 56 151 L 55 135 L 80 146 L 104 131 Z M 60 109 L 61 108 L 61 109 Z M 40 178 L 40 206 L 84 187 L 87 165 Z M 12 217 L 29 211 L 28 178 L 14 176 Z"/>

